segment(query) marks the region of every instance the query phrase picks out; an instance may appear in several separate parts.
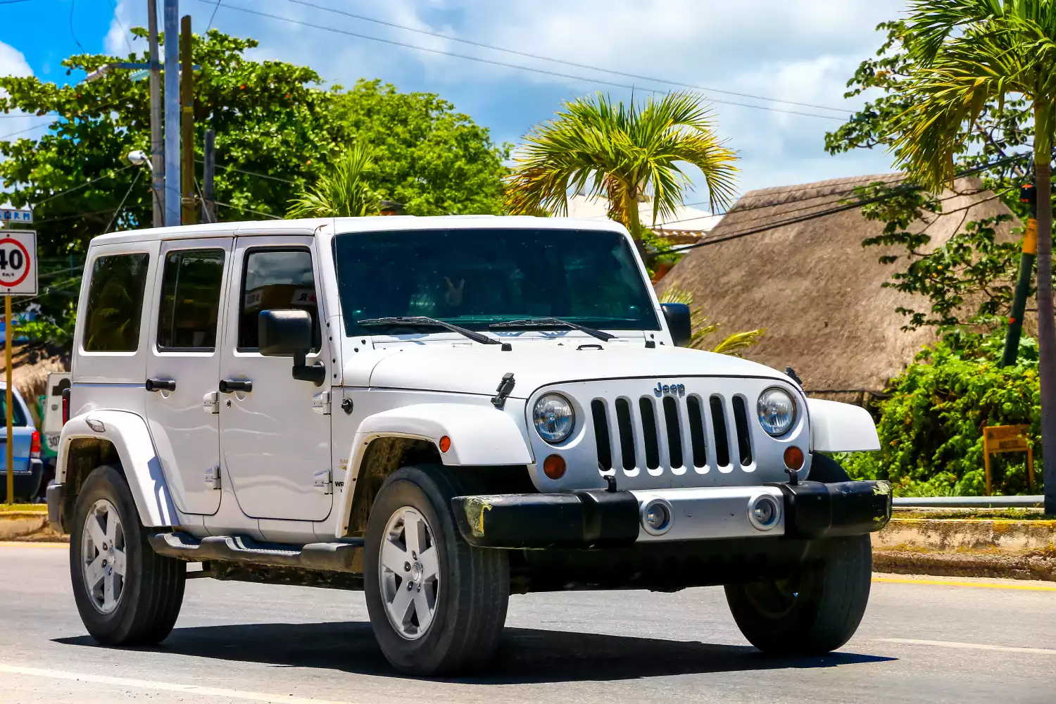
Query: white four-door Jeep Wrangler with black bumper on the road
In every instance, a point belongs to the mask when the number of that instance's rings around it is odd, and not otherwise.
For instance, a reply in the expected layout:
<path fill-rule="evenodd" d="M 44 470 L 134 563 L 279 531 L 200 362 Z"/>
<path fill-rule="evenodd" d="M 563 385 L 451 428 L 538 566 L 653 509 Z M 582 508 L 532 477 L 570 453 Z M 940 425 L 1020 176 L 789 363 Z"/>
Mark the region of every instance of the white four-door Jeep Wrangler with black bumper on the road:
<path fill-rule="evenodd" d="M 362 589 L 428 676 L 485 663 L 511 592 L 724 585 L 762 650 L 836 648 L 890 487 L 819 453 L 875 427 L 689 337 L 611 223 L 96 237 L 48 492 L 84 626 L 157 643 L 188 576 Z"/>

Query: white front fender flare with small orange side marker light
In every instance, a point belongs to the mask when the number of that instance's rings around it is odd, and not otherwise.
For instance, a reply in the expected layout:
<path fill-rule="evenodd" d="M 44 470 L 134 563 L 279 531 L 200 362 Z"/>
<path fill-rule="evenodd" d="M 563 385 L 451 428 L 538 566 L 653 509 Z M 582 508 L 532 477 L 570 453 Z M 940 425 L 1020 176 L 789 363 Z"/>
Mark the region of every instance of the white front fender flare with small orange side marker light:
<path fill-rule="evenodd" d="M 367 416 L 359 424 L 348 452 L 348 468 L 337 512 L 336 534 L 345 534 L 355 499 L 356 477 L 366 448 L 378 438 L 426 440 L 439 448 L 448 436 L 451 446 L 440 461 L 457 467 L 531 464 L 531 450 L 521 427 L 508 414 L 465 403 L 418 403 Z"/>

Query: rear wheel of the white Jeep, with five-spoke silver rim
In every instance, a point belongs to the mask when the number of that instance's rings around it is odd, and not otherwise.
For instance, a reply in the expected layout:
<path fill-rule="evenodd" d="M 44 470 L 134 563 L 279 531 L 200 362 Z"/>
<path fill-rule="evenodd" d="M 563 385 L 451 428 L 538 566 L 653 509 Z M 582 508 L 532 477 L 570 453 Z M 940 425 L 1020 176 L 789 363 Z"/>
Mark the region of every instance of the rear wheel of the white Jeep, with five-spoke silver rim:
<path fill-rule="evenodd" d="M 74 601 L 103 645 L 154 645 L 172 630 L 187 566 L 156 554 L 121 473 L 96 468 L 81 484 L 70 535 Z"/>

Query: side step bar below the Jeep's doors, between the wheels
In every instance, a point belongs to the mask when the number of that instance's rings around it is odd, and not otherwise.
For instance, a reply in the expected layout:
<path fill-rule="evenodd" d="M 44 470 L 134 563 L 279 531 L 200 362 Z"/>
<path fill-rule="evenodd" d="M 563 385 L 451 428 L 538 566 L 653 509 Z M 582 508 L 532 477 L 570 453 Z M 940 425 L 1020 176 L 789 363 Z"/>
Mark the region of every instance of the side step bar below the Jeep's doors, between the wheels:
<path fill-rule="evenodd" d="M 362 538 L 306 546 L 261 544 L 247 537 L 218 535 L 201 540 L 187 533 L 155 533 L 150 545 L 159 555 L 192 563 L 219 560 L 243 565 L 293 567 L 329 572 L 362 571 Z"/>

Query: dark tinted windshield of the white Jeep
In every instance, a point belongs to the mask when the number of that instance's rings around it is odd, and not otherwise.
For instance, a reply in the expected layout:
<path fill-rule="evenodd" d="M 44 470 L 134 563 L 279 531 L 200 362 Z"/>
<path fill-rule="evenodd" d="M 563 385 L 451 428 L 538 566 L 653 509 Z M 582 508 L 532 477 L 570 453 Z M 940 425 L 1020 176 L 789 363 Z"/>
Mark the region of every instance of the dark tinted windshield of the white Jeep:
<path fill-rule="evenodd" d="M 334 253 L 347 335 L 409 331 L 357 322 L 399 316 L 428 316 L 471 330 L 523 318 L 561 318 L 610 330 L 660 329 L 648 288 L 618 232 L 347 233 L 335 237 Z"/>

